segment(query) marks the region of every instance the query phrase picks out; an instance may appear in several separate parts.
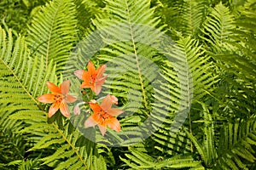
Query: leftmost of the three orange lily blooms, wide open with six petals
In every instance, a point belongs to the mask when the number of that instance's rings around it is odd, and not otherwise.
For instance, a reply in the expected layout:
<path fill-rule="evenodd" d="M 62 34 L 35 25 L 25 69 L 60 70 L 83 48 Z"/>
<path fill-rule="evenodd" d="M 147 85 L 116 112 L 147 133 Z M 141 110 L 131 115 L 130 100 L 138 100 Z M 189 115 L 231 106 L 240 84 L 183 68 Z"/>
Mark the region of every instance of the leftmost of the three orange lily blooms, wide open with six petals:
<path fill-rule="evenodd" d="M 38 100 L 47 104 L 53 103 L 49 107 L 48 116 L 53 116 L 55 112 L 60 109 L 63 116 L 69 117 L 70 113 L 68 111 L 67 103 L 73 103 L 77 99 L 76 97 L 67 94 L 70 87 L 69 80 L 62 82 L 60 88 L 52 82 L 46 82 L 46 84 L 52 94 L 41 95 L 40 97 L 38 97 Z"/>

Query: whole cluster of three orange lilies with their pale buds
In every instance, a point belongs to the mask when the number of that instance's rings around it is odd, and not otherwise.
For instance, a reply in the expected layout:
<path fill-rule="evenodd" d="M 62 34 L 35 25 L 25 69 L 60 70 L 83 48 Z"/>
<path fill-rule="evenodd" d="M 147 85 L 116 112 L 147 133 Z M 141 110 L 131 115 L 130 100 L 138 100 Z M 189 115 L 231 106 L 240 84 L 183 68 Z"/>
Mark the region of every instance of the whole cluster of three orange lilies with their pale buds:
<path fill-rule="evenodd" d="M 106 71 L 106 68 L 107 65 L 101 65 L 96 70 L 95 65 L 89 61 L 87 71 L 74 71 L 74 75 L 83 81 L 80 88 L 90 88 L 91 91 L 96 95 L 100 94 L 102 91 L 102 84 L 108 77 L 108 75 L 103 77 L 103 73 Z M 46 82 L 46 84 L 51 94 L 41 95 L 38 97 L 38 100 L 46 104 L 52 104 L 49 107 L 48 116 L 53 116 L 55 112 L 60 109 L 63 116 L 69 117 L 70 112 L 68 110 L 67 103 L 73 103 L 77 100 L 77 97 L 68 94 L 70 81 L 66 80 L 62 82 L 60 87 L 56 86 L 52 82 Z M 74 107 L 75 115 L 80 114 L 79 105 L 84 104 L 89 104 L 90 109 L 93 111 L 93 114 L 91 114 L 84 122 L 84 127 L 94 127 L 97 125 L 102 133 L 102 136 L 104 136 L 106 133 L 107 127 L 116 132 L 121 130 L 120 123 L 116 116 L 119 116 L 125 111 L 112 107 L 113 104 L 118 104 L 118 99 L 115 96 L 108 94 L 104 99 L 102 99 L 102 103 L 100 105 L 96 103 L 95 99 L 91 99 L 90 102 L 80 102 Z"/>

